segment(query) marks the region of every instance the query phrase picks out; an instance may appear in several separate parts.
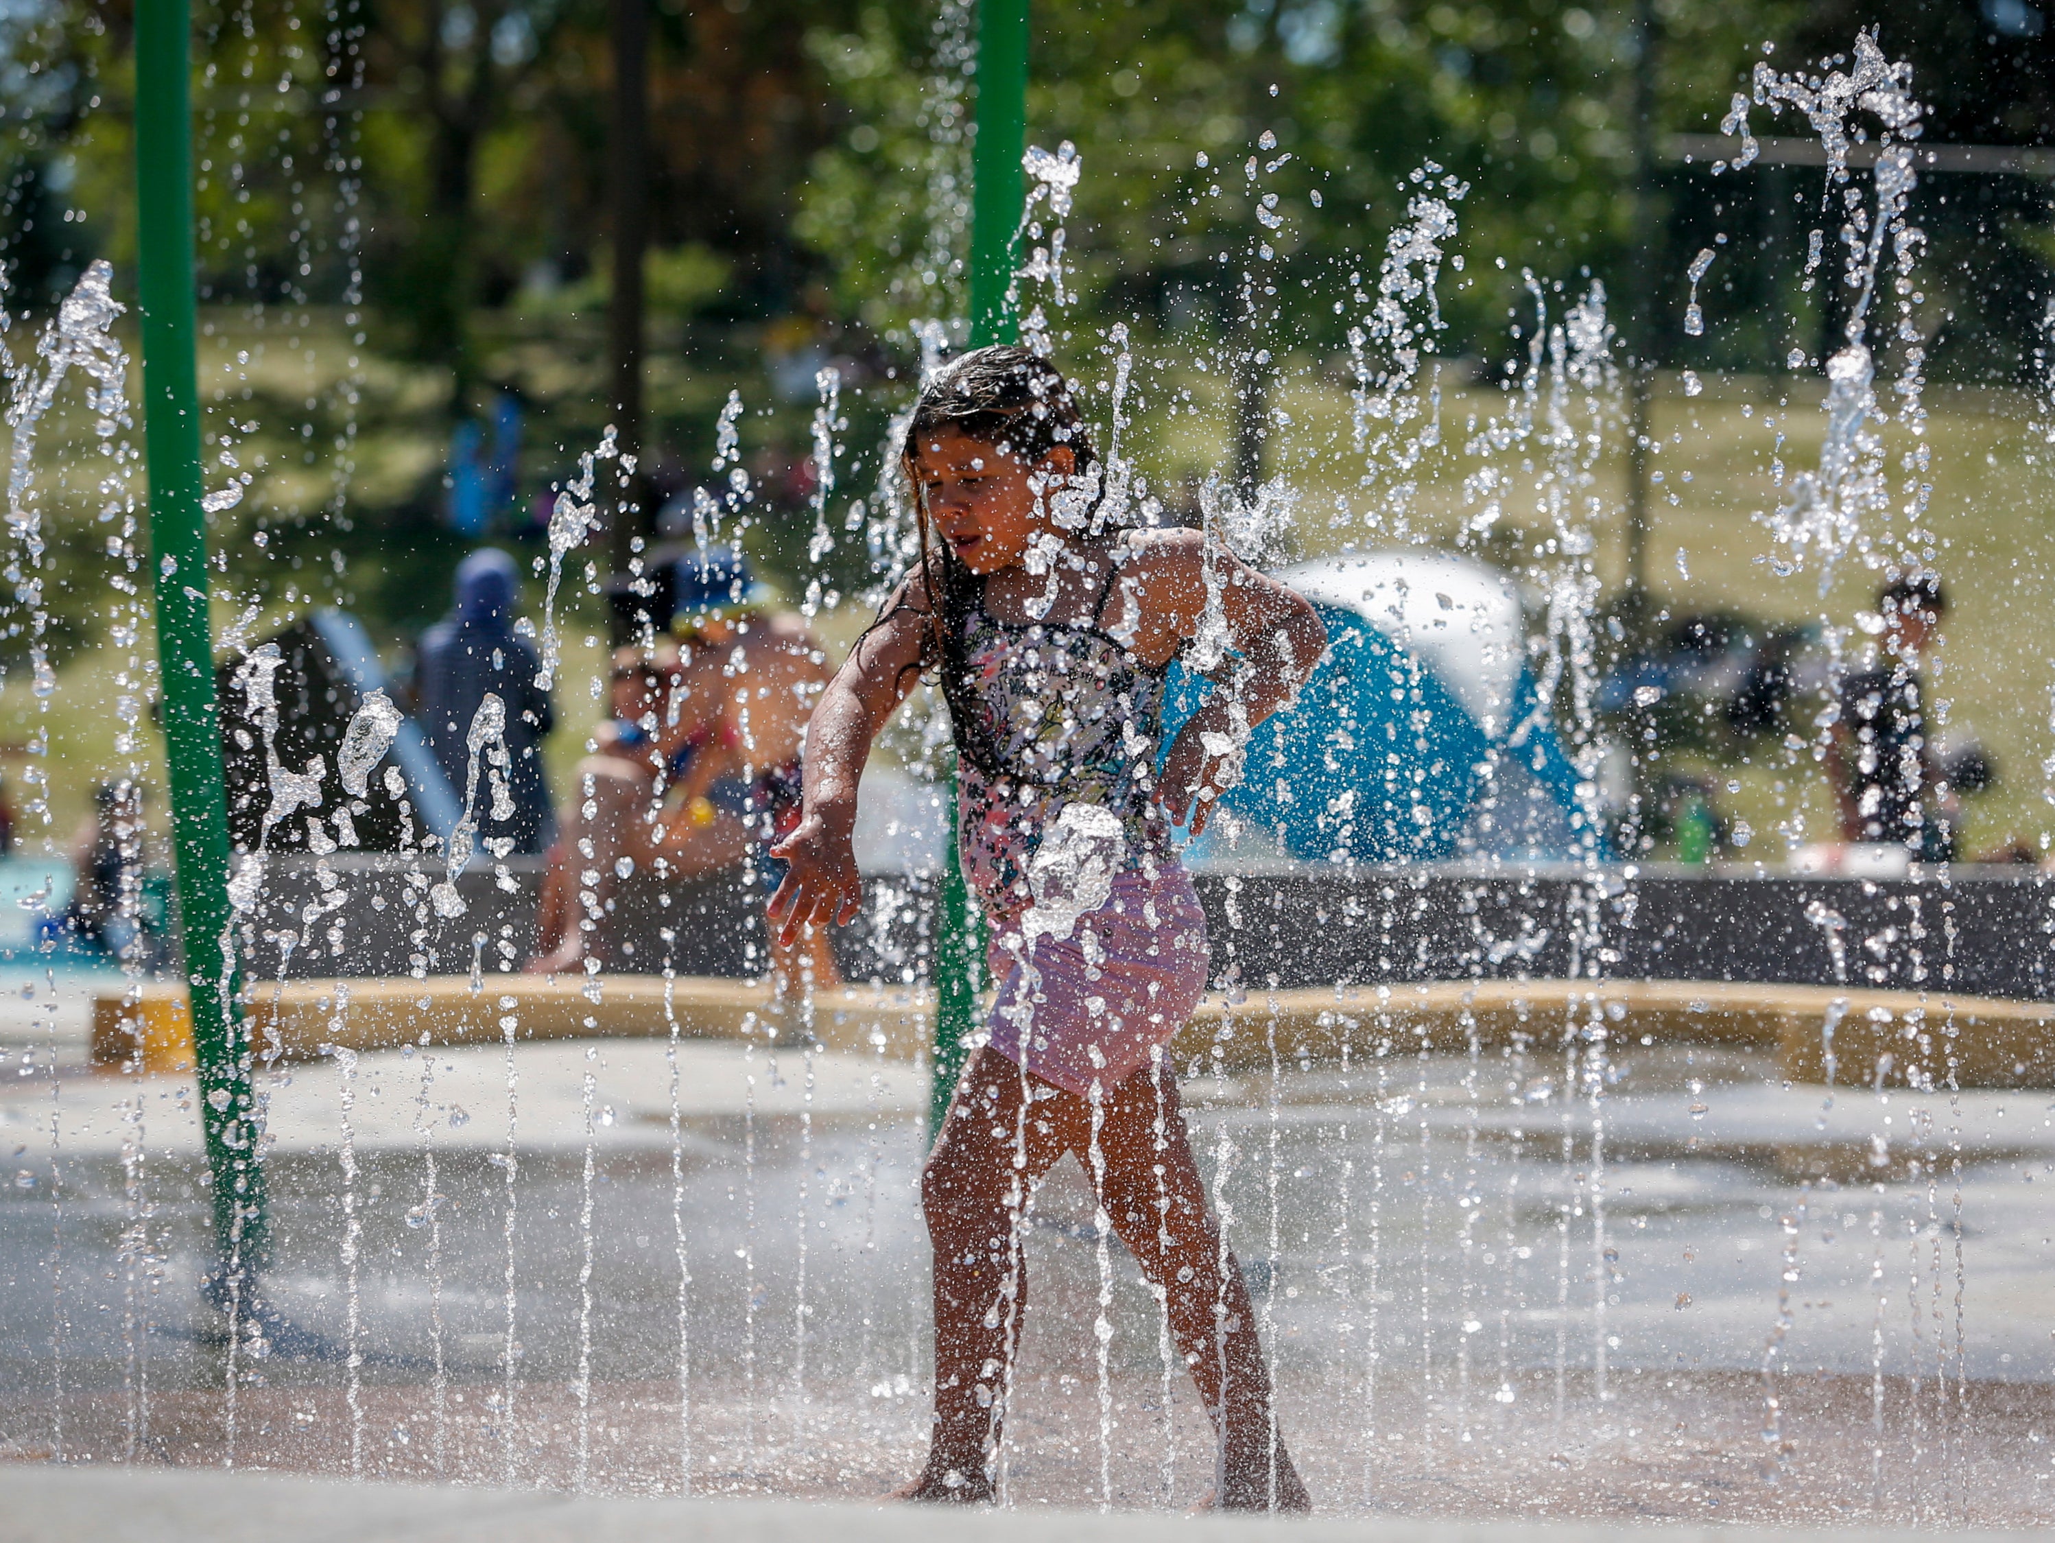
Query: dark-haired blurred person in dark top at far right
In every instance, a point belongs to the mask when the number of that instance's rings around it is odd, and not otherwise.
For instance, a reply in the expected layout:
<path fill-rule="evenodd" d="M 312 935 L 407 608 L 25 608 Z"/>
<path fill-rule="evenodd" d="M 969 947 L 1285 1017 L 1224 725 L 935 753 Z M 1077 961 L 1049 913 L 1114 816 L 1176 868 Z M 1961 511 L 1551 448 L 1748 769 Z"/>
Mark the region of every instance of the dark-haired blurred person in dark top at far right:
<path fill-rule="evenodd" d="M 1983 750 L 1944 752 L 1928 713 L 1921 666 L 1940 643 L 1948 594 L 1934 573 L 1911 573 L 1884 588 L 1876 610 L 1874 653 L 1868 668 L 1841 678 L 1833 725 L 1841 840 L 1897 844 L 1917 863 L 1946 863 L 1956 853 L 1958 795 L 1991 783 Z"/>

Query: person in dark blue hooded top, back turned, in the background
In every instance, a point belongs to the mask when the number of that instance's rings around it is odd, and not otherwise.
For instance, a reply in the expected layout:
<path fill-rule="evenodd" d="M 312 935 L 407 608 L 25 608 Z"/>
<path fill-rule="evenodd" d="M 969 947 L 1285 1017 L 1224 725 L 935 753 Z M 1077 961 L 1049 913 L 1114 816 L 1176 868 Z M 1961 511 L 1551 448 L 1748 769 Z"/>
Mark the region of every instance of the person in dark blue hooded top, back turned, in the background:
<path fill-rule="evenodd" d="M 516 579 L 514 559 L 497 547 L 483 547 L 458 563 L 456 610 L 429 627 L 415 651 L 415 717 L 442 775 L 462 797 L 471 717 L 485 692 L 506 703 L 514 814 L 493 818 L 481 779 L 479 836 L 512 838 L 512 851 L 540 853 L 555 830 L 543 781 L 543 736 L 555 725 L 557 711 L 549 692 L 534 684 L 540 668 L 534 647 L 514 631 Z"/>

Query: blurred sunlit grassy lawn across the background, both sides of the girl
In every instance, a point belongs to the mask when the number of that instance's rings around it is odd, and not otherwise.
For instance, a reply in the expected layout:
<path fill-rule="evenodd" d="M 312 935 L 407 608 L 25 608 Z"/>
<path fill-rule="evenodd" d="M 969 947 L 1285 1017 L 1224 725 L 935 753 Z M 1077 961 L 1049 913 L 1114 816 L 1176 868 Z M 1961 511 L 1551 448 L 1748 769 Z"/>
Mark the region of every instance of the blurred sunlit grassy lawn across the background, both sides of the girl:
<path fill-rule="evenodd" d="M 407 633 L 446 606 L 446 575 L 464 549 L 464 542 L 440 532 L 434 518 L 436 479 L 446 452 L 440 376 L 358 347 L 333 314 L 312 312 L 304 327 L 273 321 L 263 331 L 253 331 L 247 316 L 220 314 L 212 323 L 201 351 L 201 382 L 212 397 L 210 429 L 218 434 L 230 421 L 257 421 L 255 431 L 236 431 L 238 460 L 255 473 L 255 483 L 236 510 L 218 516 L 218 544 L 230 561 L 226 577 L 216 575 L 216 584 L 242 604 L 257 606 L 251 631 L 259 635 L 267 623 L 308 602 L 351 604 L 376 618 L 378 643 L 397 664 L 409 643 Z M 592 407 L 600 399 L 598 333 L 553 335 L 508 325 L 489 341 L 495 378 L 520 380 L 532 401 L 530 475 L 567 468 L 598 429 Z M 764 386 L 762 362 L 746 345 L 748 339 L 732 341 L 719 357 L 664 351 L 651 364 L 660 431 L 688 446 L 693 462 L 703 458 L 703 450 L 693 446 L 711 440 L 711 419 L 730 380 L 742 382 L 752 405 L 744 423 L 746 448 L 769 440 L 785 448 L 804 444 L 806 403 L 775 403 Z M 351 357 L 360 364 L 351 366 Z M 1171 351 L 1159 351 L 1159 357 L 1169 360 Z M 132 392 L 136 386 L 140 382 L 132 384 Z M 1175 491 L 1223 464 L 1231 409 L 1217 376 L 1196 372 L 1182 355 L 1163 370 L 1145 360 L 1136 386 L 1141 401 L 1126 444 L 1157 487 Z M 327 524 L 325 507 L 335 495 L 331 446 L 343 427 L 345 392 L 351 390 L 358 397 L 356 466 L 343 507 L 358 530 L 343 534 Z M 1184 392 L 1190 392 L 1190 411 L 1184 411 Z M 1173 399 L 1180 411 L 1163 411 Z M 762 405 L 773 407 L 769 417 L 756 415 Z M 1486 419 L 1504 413 L 1506 399 L 1480 388 L 1467 368 L 1443 370 L 1443 446 L 1422 460 L 1416 491 L 1404 510 L 1393 505 L 1383 485 L 1360 487 L 1362 464 L 1350 446 L 1348 388 L 1332 368 L 1291 362 L 1270 407 L 1282 419 L 1272 427 L 1268 466 L 1284 473 L 1299 495 L 1288 555 L 1321 555 L 1348 544 L 1451 544 L 1475 510 L 1463 479 L 1478 468 L 1478 460 L 1465 444 Z M 1926 524 L 1940 536 L 1938 567 L 1954 596 L 1932 694 L 1950 703 L 1948 717 L 1958 731 L 1983 740 L 2000 773 L 1997 787 L 1971 803 L 1965 846 L 1983 851 L 2010 838 L 2039 842 L 2055 818 L 2043 797 L 2047 779 L 2041 770 L 2051 752 L 2049 703 L 2055 688 L 2055 637 L 2045 620 L 2049 559 L 2055 555 L 2055 468 L 2028 460 L 2032 405 L 2022 394 L 1936 386 L 1928 392 L 1928 407 L 1934 495 Z M 861 448 L 882 403 L 863 411 L 869 417 L 859 415 L 859 431 L 849 436 L 855 448 Z M 1761 561 L 1771 542 L 1757 514 L 1778 493 L 1769 481 L 1776 436 L 1786 436 L 1782 456 L 1788 466 L 1810 466 L 1819 458 L 1823 413 L 1813 382 L 1708 378 L 1704 394 L 1685 397 L 1677 380 L 1662 380 L 1654 423 L 1662 438 L 1656 456 L 1662 483 L 1650 505 L 1648 581 L 1660 606 L 1673 614 L 1728 610 L 1771 623 L 1827 614 L 1847 625 L 1872 604 L 1878 579 L 1854 559 L 1843 563 L 1825 598 L 1815 573 L 1778 577 Z M 53 536 L 51 608 L 64 614 L 68 629 L 58 651 L 60 688 L 39 701 L 29 690 L 23 664 L 12 664 L 0 686 L 0 746 L 18 746 L 47 725 L 49 834 L 58 840 L 66 840 L 84 814 L 92 783 L 115 770 L 115 676 L 129 653 L 107 639 L 127 598 L 109 584 L 123 571 L 121 559 L 105 551 L 119 518 L 111 524 L 97 520 L 105 462 L 92 454 L 92 444 L 90 423 L 72 397 L 51 415 L 37 454 Z M 1626 458 L 1617 423 L 1607 429 L 1605 446 L 1589 493 L 1597 499 L 1595 563 L 1611 588 L 1623 573 Z M 214 464 L 214 454 L 210 448 L 210 485 L 228 475 Z M 1504 495 L 1506 516 L 1484 551 L 1496 561 L 1535 561 L 1533 544 L 1547 532 L 1535 512 L 1533 477 L 1512 462 L 1504 462 L 1502 471 L 1512 477 Z M 871 468 L 845 477 L 838 499 L 867 493 L 873 483 Z M 140 493 L 140 475 L 132 477 L 132 485 Z M 403 514 L 390 514 L 395 510 Z M 836 524 L 838 516 L 840 507 Z M 259 544 L 259 534 L 265 544 Z M 777 547 L 779 532 L 769 532 L 769 538 Z M 1539 561 L 1556 559 L 1543 555 Z M 136 577 L 148 579 L 148 571 Z M 584 563 L 573 559 L 561 596 L 563 727 L 549 746 L 559 793 L 596 717 L 592 686 L 604 664 L 600 602 L 586 594 L 582 579 Z M 238 620 L 242 604 L 226 598 L 218 604 L 218 631 Z M 538 581 L 528 604 L 540 616 Z M 847 645 L 861 620 L 855 606 L 845 606 L 824 618 L 824 631 Z M 148 627 L 136 647 L 150 657 L 154 641 Z M 142 738 L 154 777 L 156 740 L 150 731 Z M 1720 779 L 1736 785 L 1724 799 L 1726 812 L 1749 820 L 1765 836 L 1749 855 L 1780 857 L 1782 842 L 1769 834 L 1794 816 L 1806 832 L 1825 834 L 1829 803 L 1810 760 L 1800 756 L 1794 768 L 1782 748 L 1751 760 L 1757 764 L 1716 768 Z M 18 803 L 12 773 L 10 785 Z M 21 828 L 31 838 L 43 834 L 31 820 L 23 820 Z"/>

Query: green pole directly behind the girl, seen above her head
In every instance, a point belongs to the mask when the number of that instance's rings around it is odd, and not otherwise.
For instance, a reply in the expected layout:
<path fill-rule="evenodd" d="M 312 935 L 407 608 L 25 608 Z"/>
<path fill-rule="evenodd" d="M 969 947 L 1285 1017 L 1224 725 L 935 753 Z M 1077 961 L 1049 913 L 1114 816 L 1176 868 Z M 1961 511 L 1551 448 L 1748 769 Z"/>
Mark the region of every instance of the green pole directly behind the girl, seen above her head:
<path fill-rule="evenodd" d="M 1013 312 L 1013 238 L 1021 220 L 1028 148 L 1028 0 L 978 0 L 978 136 L 972 142 L 970 345 L 1019 337 Z M 956 805 L 956 789 L 949 791 Z M 956 822 L 941 865 L 941 937 L 935 947 L 935 1083 L 929 1140 L 941 1130 L 964 1070 L 964 1040 L 978 1015 L 984 937 L 956 853 Z"/>

